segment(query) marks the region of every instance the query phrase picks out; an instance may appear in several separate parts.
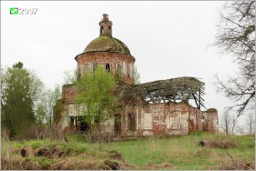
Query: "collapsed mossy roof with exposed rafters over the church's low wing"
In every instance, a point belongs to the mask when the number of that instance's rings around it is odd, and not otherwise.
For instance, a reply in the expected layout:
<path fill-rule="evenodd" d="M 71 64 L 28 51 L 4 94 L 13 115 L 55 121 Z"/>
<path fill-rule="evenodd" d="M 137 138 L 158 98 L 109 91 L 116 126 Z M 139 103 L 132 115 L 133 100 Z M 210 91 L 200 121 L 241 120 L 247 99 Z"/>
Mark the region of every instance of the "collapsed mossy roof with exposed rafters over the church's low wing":
<path fill-rule="evenodd" d="M 139 99 L 144 103 L 168 103 L 195 100 L 197 108 L 204 106 L 205 83 L 195 77 L 177 77 L 166 80 L 148 82 L 140 85 L 130 85 L 123 91 L 123 98 L 129 99 L 129 104 L 134 102 L 131 99 Z M 136 103 L 136 102 L 135 102 Z"/>

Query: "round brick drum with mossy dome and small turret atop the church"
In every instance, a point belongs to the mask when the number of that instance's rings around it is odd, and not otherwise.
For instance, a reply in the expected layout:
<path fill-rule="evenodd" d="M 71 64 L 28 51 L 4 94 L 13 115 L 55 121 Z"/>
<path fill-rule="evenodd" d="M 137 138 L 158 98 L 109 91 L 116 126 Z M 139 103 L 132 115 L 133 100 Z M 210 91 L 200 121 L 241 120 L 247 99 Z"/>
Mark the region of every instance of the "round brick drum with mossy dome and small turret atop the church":
<path fill-rule="evenodd" d="M 80 55 L 76 55 L 79 77 L 87 71 L 94 72 L 102 66 L 112 75 L 123 78 L 126 84 L 133 84 L 135 58 L 123 42 L 112 36 L 112 21 L 104 14 L 99 22 L 100 36 L 93 39 Z"/>

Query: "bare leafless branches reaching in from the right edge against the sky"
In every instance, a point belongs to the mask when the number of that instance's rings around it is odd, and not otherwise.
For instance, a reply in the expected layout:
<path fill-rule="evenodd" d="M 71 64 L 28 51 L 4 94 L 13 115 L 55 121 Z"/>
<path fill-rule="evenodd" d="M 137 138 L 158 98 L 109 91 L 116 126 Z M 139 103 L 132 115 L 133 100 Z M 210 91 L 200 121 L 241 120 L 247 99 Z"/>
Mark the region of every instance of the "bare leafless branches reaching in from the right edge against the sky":
<path fill-rule="evenodd" d="M 255 96 L 255 1 L 230 1 L 224 5 L 214 45 L 233 56 L 238 75 L 224 83 L 217 77 L 218 91 L 236 105 L 237 116 L 254 103 Z"/>

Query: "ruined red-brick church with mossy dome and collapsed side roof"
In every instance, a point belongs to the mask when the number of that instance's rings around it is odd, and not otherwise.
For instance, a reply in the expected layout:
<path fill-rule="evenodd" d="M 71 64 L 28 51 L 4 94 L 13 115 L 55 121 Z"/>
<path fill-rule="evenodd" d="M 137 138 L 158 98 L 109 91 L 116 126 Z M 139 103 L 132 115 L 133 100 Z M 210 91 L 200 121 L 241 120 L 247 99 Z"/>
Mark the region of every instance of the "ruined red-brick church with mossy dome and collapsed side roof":
<path fill-rule="evenodd" d="M 134 85 L 135 58 L 122 41 L 112 37 L 112 22 L 108 15 L 103 15 L 99 25 L 100 36 L 92 40 L 75 60 L 80 76 L 84 74 L 84 68 L 93 72 L 98 65 L 112 75 L 121 71 L 125 84 L 118 96 L 122 106 L 101 124 L 104 133 L 155 136 L 187 135 L 198 130 L 218 132 L 217 110 L 209 108 L 201 111 L 201 107 L 205 107 L 203 82 L 185 76 Z M 76 85 L 63 85 L 61 123 L 62 127 L 69 127 L 70 130 L 85 131 L 88 126 L 82 122 L 80 107 L 74 105 L 76 94 Z M 194 101 L 195 106 L 191 106 L 189 101 Z"/>

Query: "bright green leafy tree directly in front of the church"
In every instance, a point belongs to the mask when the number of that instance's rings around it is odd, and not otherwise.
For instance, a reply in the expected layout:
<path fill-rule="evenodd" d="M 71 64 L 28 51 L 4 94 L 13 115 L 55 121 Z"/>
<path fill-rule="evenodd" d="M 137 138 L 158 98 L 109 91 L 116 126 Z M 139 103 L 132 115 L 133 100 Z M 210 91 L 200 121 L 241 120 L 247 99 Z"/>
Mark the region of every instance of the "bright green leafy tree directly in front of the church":
<path fill-rule="evenodd" d="M 117 99 L 113 95 L 116 81 L 101 66 L 93 73 L 84 73 L 77 82 L 78 95 L 75 97 L 75 103 L 80 106 L 88 125 L 97 126 L 101 133 L 101 122 L 109 118 L 117 105 Z"/>

